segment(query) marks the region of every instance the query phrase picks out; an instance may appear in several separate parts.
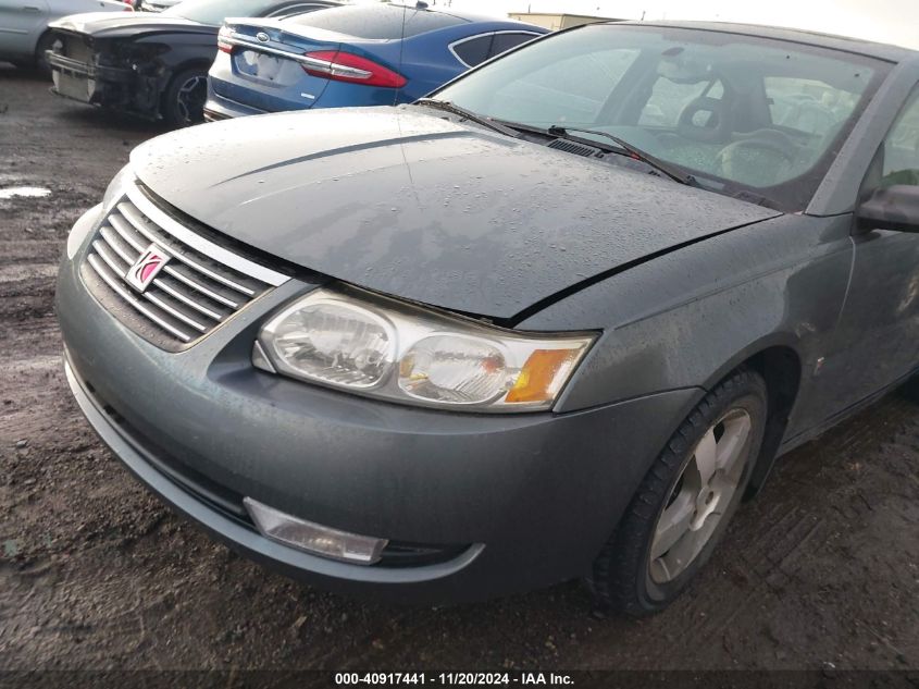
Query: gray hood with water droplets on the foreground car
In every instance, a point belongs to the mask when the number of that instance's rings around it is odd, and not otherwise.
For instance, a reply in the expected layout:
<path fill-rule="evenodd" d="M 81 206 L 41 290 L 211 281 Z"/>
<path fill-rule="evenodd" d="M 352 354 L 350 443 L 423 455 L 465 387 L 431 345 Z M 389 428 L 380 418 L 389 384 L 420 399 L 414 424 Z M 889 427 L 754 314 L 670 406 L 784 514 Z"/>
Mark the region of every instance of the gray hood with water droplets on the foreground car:
<path fill-rule="evenodd" d="M 181 211 L 374 291 L 511 319 L 562 290 L 777 211 L 419 107 L 259 115 L 139 146 Z"/>

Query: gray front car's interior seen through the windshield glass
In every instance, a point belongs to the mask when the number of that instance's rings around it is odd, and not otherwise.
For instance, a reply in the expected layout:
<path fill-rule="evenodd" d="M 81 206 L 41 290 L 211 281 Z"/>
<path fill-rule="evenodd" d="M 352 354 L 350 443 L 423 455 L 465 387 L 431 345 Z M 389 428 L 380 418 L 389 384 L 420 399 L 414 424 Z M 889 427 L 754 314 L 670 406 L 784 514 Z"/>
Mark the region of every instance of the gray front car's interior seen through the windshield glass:
<path fill-rule="evenodd" d="M 874 74 L 869 64 L 792 53 L 768 41 L 614 42 L 587 53 L 570 49 L 521 75 L 496 90 L 486 112 L 606 132 L 713 187 L 767 190 L 835 151 Z"/>

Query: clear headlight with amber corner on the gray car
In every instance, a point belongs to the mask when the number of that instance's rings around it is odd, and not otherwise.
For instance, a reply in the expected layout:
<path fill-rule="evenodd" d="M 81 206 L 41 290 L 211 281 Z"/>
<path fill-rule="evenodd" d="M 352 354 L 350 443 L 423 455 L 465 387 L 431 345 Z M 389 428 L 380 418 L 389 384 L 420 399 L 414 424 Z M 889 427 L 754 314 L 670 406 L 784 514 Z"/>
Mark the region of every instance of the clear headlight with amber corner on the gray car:
<path fill-rule="evenodd" d="M 394 402 L 534 411 L 552 406 L 594 340 L 521 334 L 356 288 L 316 290 L 262 328 L 252 362 Z"/>

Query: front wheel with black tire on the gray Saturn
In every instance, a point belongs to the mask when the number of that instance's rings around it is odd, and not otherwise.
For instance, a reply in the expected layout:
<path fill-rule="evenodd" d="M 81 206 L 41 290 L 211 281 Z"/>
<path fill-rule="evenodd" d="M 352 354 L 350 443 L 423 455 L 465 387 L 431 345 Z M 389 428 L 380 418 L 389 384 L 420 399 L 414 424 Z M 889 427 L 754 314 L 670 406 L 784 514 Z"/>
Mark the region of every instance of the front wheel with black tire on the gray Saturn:
<path fill-rule="evenodd" d="M 657 613 L 705 565 L 743 500 L 767 399 L 762 378 L 738 369 L 693 409 L 594 562 L 587 583 L 601 607 L 635 617 Z"/>

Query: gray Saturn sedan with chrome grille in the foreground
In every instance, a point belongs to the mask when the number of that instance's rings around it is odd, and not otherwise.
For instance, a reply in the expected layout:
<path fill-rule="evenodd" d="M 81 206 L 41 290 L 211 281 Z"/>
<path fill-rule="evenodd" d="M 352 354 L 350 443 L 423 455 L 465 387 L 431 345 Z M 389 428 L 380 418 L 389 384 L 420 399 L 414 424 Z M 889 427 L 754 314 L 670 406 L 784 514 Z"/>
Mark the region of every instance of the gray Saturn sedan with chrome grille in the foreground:
<path fill-rule="evenodd" d="M 70 385 L 288 575 L 660 610 L 778 455 L 917 367 L 917 82 L 891 46 L 600 24 L 410 106 L 161 136 L 67 241 Z"/>

